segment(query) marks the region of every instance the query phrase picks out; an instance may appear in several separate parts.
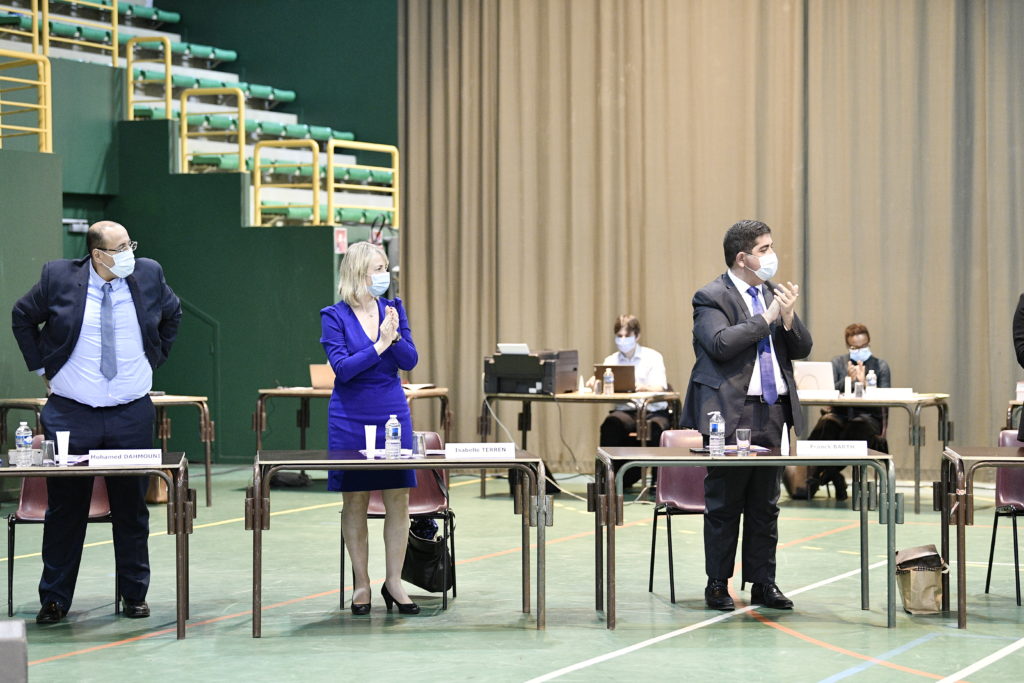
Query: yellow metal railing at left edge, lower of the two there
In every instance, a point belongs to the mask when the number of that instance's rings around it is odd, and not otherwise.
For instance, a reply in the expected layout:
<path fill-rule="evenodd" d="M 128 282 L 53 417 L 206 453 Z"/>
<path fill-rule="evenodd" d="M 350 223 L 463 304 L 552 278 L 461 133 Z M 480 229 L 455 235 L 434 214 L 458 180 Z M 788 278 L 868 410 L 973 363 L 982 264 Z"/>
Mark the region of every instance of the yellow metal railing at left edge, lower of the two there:
<path fill-rule="evenodd" d="M 9 59 L 9 61 L 8 61 Z M 8 76 L 2 72 L 9 69 L 19 69 L 26 67 L 36 68 L 36 78 L 23 78 Z M 6 84 L 12 84 L 6 87 Z M 53 152 L 53 108 L 51 104 L 51 84 L 50 60 L 38 54 L 27 54 L 25 52 L 13 52 L 11 50 L 0 50 L 0 147 L 3 140 L 9 137 L 22 137 L 25 135 L 39 136 L 39 151 L 43 153 Z M 23 101 L 8 99 L 12 92 L 35 90 L 36 101 Z M 12 106 L 13 109 L 4 109 Z M 36 113 L 35 126 L 19 126 L 6 123 L 11 116 Z M 8 133 L 7 131 L 14 131 Z"/>

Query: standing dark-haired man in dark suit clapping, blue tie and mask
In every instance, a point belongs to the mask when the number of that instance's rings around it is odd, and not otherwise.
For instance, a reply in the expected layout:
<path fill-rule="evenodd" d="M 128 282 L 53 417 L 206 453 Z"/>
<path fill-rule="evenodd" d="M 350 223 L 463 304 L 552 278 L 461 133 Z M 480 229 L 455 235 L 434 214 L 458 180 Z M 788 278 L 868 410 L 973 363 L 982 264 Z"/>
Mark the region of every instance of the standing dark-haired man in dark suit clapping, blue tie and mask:
<path fill-rule="evenodd" d="M 811 334 L 796 313 L 800 288 L 772 285 L 778 257 L 771 228 L 742 220 L 723 243 L 728 270 L 693 295 L 693 350 L 683 407 L 684 424 L 709 432 L 708 414 L 722 413 L 726 441 L 737 427 L 751 441 L 778 446 L 782 426 L 801 429 L 794 358 L 811 352 Z M 734 608 L 732 577 L 743 517 L 743 581 L 751 602 L 790 609 L 793 601 L 775 585 L 781 467 L 709 467 L 705 479 L 705 601 L 712 609 Z"/>

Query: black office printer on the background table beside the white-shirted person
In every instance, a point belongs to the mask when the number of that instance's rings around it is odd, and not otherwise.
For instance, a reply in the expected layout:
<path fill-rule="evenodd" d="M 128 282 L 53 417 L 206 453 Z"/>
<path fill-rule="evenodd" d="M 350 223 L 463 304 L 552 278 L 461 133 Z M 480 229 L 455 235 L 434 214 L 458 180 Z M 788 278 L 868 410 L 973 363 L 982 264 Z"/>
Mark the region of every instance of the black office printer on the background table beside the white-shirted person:
<path fill-rule="evenodd" d="M 575 391 L 580 352 L 495 353 L 483 357 L 484 393 L 555 394 Z"/>

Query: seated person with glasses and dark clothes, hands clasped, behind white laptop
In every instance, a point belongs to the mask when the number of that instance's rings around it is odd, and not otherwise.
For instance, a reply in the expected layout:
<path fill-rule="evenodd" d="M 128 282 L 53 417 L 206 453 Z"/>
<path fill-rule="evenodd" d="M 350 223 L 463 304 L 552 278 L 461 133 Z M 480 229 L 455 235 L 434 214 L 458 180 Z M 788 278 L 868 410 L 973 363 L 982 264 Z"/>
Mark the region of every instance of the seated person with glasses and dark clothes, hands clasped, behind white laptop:
<path fill-rule="evenodd" d="M 871 333 L 860 323 L 848 325 L 844 333 L 848 351 L 833 358 L 833 379 L 836 388 L 843 391 L 846 378 L 851 383 L 860 382 L 867 386 L 867 375 L 874 373 L 876 386 L 892 386 L 889 364 L 871 353 L 868 346 Z M 881 408 L 834 408 L 818 420 L 809 436 L 810 439 L 867 441 L 867 447 L 883 453 L 889 452 L 885 439 L 886 411 Z M 846 478 L 841 467 L 823 467 L 817 472 L 818 482 L 836 486 L 836 499 L 845 501 Z"/>

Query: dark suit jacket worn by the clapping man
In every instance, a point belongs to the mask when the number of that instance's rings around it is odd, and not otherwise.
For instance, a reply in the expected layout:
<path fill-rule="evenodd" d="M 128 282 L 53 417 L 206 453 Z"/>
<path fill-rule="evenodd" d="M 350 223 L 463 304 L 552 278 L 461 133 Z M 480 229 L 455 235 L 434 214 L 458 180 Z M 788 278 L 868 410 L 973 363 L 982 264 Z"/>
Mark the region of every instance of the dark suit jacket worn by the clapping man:
<path fill-rule="evenodd" d="M 774 300 L 773 286 L 767 284 L 765 307 Z M 772 336 L 775 357 L 790 389 L 790 404 L 798 433 L 803 429 L 803 415 L 793 378 L 793 359 L 806 358 L 811 352 L 811 333 L 799 316 L 793 329 L 782 321 L 772 325 L 763 315 L 751 315 L 742 295 L 729 273 L 723 273 L 693 295 L 693 350 L 696 362 L 690 372 L 683 405 L 683 424 L 708 433 L 708 414 L 721 411 L 725 433 L 731 434 L 739 423 L 746 400 L 746 388 L 754 374 L 758 341 Z"/>

